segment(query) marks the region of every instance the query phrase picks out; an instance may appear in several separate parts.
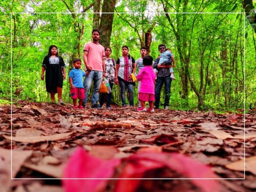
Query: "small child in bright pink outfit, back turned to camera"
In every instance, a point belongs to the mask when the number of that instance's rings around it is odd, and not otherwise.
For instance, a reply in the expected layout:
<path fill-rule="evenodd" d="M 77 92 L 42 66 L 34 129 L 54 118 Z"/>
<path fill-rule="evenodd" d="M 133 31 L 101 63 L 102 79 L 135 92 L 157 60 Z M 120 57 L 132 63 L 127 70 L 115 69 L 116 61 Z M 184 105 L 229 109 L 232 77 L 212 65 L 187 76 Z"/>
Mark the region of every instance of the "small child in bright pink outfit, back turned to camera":
<path fill-rule="evenodd" d="M 141 81 L 139 89 L 139 101 L 141 107 L 137 111 L 154 112 L 153 102 L 155 101 L 155 79 L 156 74 L 152 68 L 153 58 L 151 56 L 143 57 L 144 67 L 140 69 L 137 75 L 137 80 Z M 150 107 L 146 110 L 145 102 L 150 104 Z"/>

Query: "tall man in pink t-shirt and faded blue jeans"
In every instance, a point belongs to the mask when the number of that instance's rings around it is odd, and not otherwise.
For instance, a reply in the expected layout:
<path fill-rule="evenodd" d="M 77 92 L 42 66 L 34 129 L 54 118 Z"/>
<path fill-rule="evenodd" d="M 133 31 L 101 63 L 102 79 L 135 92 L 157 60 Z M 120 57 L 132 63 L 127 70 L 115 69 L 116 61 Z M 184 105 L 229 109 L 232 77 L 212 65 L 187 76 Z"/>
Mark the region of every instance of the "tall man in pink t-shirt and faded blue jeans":
<path fill-rule="evenodd" d="M 97 29 L 93 30 L 92 39 L 93 41 L 88 42 L 83 48 L 83 62 L 90 74 L 83 81 L 85 99 L 82 105 L 86 106 L 93 81 L 92 108 L 98 108 L 99 88 L 105 76 L 105 51 L 99 44 L 100 32 Z"/>

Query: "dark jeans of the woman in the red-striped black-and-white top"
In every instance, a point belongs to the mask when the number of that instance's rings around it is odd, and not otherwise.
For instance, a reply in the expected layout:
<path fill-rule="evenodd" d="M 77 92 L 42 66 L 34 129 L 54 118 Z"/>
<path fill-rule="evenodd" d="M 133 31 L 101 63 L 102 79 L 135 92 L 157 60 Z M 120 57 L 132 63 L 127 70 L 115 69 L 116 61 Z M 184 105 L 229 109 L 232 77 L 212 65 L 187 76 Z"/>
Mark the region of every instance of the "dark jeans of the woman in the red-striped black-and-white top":
<path fill-rule="evenodd" d="M 129 104 L 130 106 L 134 106 L 133 104 L 133 84 L 126 82 L 126 81 L 120 81 L 119 80 L 119 85 L 120 85 L 120 93 L 121 93 L 121 101 L 122 101 L 122 105 L 125 106 L 126 102 L 125 102 L 125 86 L 127 87 L 128 93 L 129 93 Z"/>

